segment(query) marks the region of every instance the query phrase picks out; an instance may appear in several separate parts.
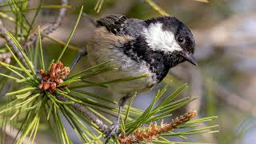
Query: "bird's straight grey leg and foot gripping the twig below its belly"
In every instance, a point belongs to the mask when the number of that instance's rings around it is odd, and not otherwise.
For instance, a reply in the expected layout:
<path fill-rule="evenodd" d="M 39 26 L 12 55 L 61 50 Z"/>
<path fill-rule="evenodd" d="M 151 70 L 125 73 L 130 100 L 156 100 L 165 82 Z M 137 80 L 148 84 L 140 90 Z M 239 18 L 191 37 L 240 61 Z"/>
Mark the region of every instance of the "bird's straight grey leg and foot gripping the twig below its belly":
<path fill-rule="evenodd" d="M 106 138 L 110 138 L 112 135 L 117 134 L 120 126 L 120 118 L 122 114 L 122 107 L 126 104 L 126 100 L 130 97 L 123 97 L 119 102 L 118 118 L 116 122 L 110 126 L 109 130 L 106 131 Z"/>

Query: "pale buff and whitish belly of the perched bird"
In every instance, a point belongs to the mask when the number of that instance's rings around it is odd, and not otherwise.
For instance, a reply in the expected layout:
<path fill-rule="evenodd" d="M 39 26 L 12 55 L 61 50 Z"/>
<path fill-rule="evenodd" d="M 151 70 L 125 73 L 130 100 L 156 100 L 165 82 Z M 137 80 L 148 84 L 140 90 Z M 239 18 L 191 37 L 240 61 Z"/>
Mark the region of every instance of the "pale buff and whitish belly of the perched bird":
<path fill-rule="evenodd" d="M 110 60 L 114 62 L 114 70 L 98 74 L 97 77 L 100 77 L 98 79 L 101 79 L 102 82 L 121 78 L 134 78 L 141 76 L 142 74 L 148 75 L 146 78 L 138 78 L 126 82 L 114 82 L 109 84 L 109 89 L 113 93 L 117 93 L 122 96 L 134 94 L 135 91 L 142 92 L 149 90 L 157 83 L 155 74 L 151 73 L 146 62 L 135 62 L 117 49 L 96 50 L 89 47 L 88 58 L 92 66 Z"/>

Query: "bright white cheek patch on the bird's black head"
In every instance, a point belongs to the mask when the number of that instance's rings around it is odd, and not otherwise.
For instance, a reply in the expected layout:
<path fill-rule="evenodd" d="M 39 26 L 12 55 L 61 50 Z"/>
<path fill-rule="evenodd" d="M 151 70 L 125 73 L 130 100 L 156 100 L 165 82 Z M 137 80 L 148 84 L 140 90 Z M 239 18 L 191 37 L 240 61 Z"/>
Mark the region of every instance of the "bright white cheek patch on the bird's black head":
<path fill-rule="evenodd" d="M 181 46 L 176 42 L 174 34 L 171 31 L 162 30 L 162 23 L 154 23 L 149 28 L 144 28 L 142 32 L 146 42 L 154 51 L 161 50 L 164 52 L 181 51 Z"/>

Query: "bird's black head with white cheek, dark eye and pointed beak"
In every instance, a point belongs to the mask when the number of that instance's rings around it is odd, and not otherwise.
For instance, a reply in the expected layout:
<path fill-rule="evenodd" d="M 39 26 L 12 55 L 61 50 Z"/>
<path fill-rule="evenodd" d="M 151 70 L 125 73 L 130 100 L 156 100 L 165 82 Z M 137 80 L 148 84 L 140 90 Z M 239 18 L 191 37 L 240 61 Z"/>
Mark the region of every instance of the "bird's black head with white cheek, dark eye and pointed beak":
<path fill-rule="evenodd" d="M 159 17 L 146 20 L 144 36 L 152 50 L 163 51 L 170 60 L 170 67 L 187 61 L 197 66 L 193 54 L 195 42 L 190 29 L 178 18 Z"/>

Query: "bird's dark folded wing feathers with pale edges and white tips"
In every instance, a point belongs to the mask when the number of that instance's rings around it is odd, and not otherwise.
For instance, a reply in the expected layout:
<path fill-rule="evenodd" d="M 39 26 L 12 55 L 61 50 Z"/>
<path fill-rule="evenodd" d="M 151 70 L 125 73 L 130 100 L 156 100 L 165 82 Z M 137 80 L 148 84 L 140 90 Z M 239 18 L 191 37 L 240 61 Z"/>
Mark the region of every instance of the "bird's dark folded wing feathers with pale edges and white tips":
<path fill-rule="evenodd" d="M 126 27 L 127 17 L 122 14 L 111 14 L 97 21 L 98 26 L 105 26 L 113 34 L 122 34 Z"/>

